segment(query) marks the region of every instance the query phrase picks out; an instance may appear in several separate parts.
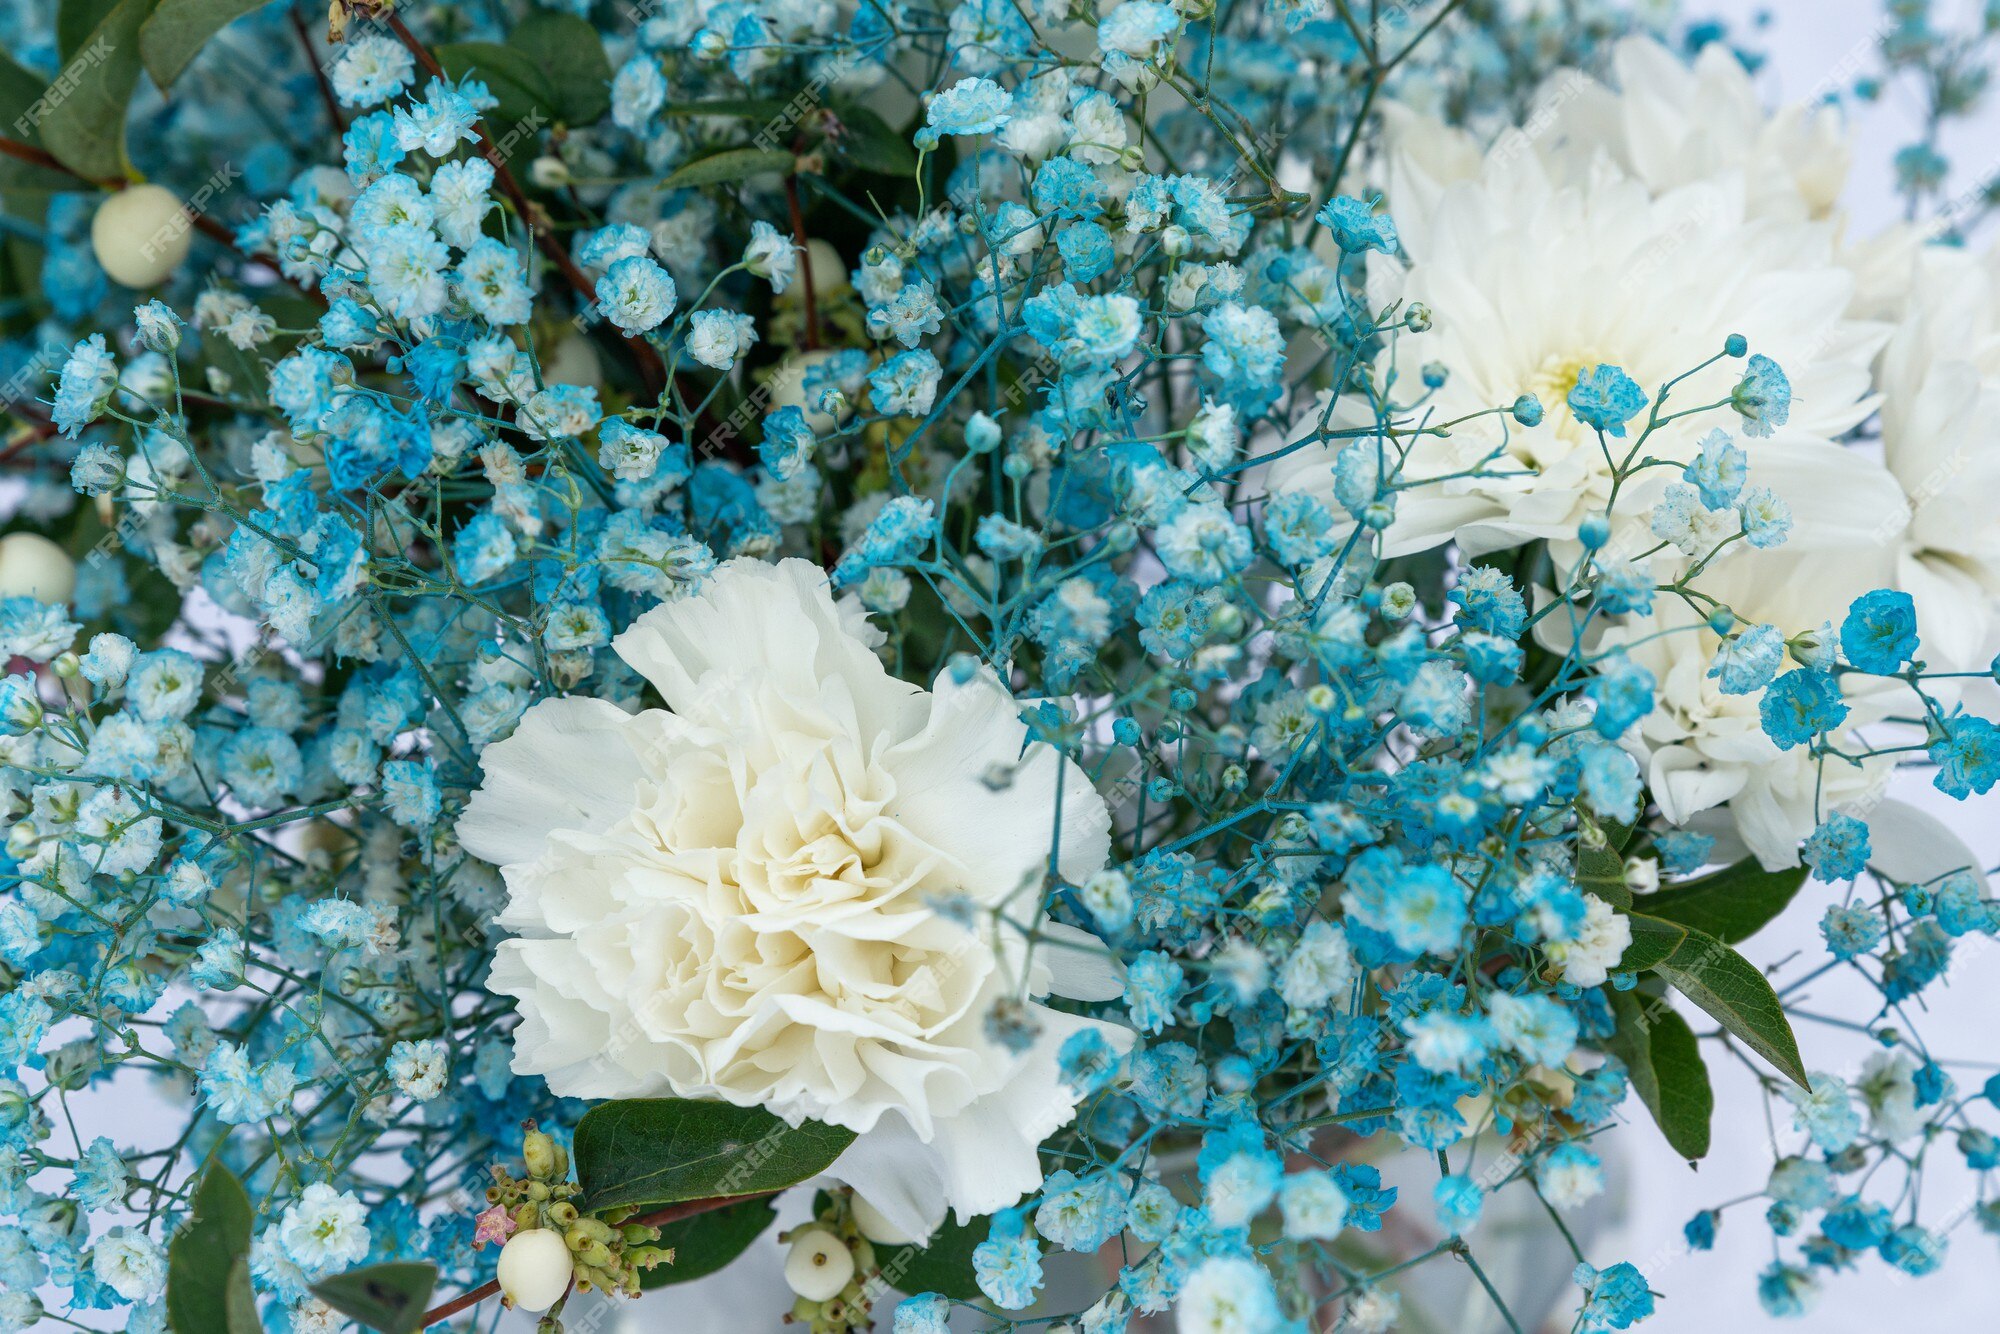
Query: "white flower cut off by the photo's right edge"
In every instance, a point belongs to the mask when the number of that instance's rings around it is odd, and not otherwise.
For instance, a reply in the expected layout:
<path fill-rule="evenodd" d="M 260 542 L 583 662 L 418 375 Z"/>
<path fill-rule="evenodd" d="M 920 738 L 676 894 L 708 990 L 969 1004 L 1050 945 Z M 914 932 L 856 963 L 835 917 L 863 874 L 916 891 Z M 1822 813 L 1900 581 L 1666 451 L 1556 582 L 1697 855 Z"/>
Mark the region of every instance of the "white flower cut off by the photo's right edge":
<path fill-rule="evenodd" d="M 1992 258 L 1936 246 L 1922 254 L 1910 308 L 1882 352 L 1882 462 L 1902 504 L 1882 514 L 1876 548 L 1916 598 L 1922 656 L 1976 668 L 1992 656 L 2000 598 L 2000 300 Z M 1866 550 L 1860 554 L 1868 554 Z"/>

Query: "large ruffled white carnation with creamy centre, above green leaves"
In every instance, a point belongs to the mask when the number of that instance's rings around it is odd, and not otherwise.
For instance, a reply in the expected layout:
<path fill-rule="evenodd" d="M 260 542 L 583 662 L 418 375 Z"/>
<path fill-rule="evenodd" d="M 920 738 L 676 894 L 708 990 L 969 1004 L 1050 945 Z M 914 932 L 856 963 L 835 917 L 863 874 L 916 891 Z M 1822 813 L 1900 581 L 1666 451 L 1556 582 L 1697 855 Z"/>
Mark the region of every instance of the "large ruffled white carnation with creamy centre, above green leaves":
<path fill-rule="evenodd" d="M 1074 1114 L 1056 1050 L 1092 1020 L 1030 1004 L 1012 1054 L 994 1002 L 1122 984 L 1034 920 L 1052 854 L 1072 882 L 1104 864 L 1102 798 L 992 674 L 932 694 L 880 640 L 816 566 L 728 562 L 612 644 L 672 712 L 538 704 L 458 834 L 506 874 L 520 938 L 492 986 L 520 1000 L 518 1074 L 848 1126 L 834 1176 L 922 1236 L 1032 1190 Z M 992 908 L 1044 932 L 1032 956 Z"/>

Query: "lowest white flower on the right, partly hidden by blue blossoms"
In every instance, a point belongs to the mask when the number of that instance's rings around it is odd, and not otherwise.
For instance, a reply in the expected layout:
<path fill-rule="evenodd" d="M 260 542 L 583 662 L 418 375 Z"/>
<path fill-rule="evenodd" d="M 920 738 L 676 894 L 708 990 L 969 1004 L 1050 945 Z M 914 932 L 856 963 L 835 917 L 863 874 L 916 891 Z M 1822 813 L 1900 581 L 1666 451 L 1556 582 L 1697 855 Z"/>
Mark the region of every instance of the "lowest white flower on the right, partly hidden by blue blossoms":
<path fill-rule="evenodd" d="M 1754 468 L 1754 464 L 1752 464 Z M 1774 624 L 1786 636 L 1836 622 L 1846 604 L 1868 590 L 1866 572 L 1848 582 L 1846 562 L 1750 552 L 1718 560 L 1700 588 L 1748 624 Z M 1660 814 L 1672 824 L 1696 822 L 1704 832 L 1728 832 L 1768 868 L 1798 866 L 1798 844 L 1826 810 L 1872 804 L 1888 778 L 1892 756 L 1862 764 L 1820 762 L 1810 748 L 1780 750 L 1760 718 L 1762 692 L 1724 694 L 1708 674 L 1720 640 L 1686 602 L 1658 596 L 1650 616 L 1604 634 L 1600 648 L 1624 644 L 1628 656 L 1654 674 L 1658 700 L 1626 734 Z M 1848 728 L 1880 722 L 1896 702 L 1882 682 L 1850 690 Z M 1728 804 L 1730 822 L 1714 828 L 1696 820 Z"/>

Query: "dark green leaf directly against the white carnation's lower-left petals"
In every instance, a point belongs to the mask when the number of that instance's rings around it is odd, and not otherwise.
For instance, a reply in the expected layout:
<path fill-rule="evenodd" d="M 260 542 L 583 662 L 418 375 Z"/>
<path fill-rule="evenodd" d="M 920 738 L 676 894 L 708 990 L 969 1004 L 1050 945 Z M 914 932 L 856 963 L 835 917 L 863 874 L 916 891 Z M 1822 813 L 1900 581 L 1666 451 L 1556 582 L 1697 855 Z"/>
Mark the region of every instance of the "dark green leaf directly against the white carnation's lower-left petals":
<path fill-rule="evenodd" d="M 576 1124 L 576 1180 L 594 1212 L 782 1190 L 854 1142 L 840 1126 L 786 1126 L 762 1108 L 692 1098 L 602 1102 Z"/>

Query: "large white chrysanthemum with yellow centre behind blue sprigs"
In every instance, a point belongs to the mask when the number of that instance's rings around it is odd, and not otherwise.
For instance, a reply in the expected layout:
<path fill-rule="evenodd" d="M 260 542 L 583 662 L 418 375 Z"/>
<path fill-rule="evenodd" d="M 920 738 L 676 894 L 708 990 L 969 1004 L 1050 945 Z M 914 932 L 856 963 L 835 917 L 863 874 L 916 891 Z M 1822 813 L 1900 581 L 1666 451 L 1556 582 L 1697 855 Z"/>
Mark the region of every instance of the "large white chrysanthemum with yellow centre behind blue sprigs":
<path fill-rule="evenodd" d="M 1612 364 L 1652 394 L 1718 358 L 1730 334 L 1792 382 L 1790 424 L 1750 454 L 1752 486 L 1794 510 L 1792 548 L 1852 546 L 1878 526 L 1890 478 L 1832 442 L 1872 410 L 1868 366 L 1888 330 L 1846 318 L 1854 278 L 1832 258 L 1828 224 L 1756 220 L 1730 180 L 1654 196 L 1604 164 L 1560 184 L 1532 154 L 1490 156 L 1430 210 L 1394 198 L 1390 210 L 1408 262 L 1370 256 L 1368 302 L 1430 306 L 1436 326 L 1406 338 L 1402 356 L 1446 368 L 1424 418 L 1458 422 L 1410 442 L 1404 480 L 1436 484 L 1398 496 L 1390 554 L 1450 540 L 1468 554 L 1542 538 L 1574 550 L 1578 524 L 1610 500 L 1604 448 L 1566 404 L 1578 376 Z M 1726 400 L 1742 366 L 1722 358 L 1688 376 L 1670 410 Z M 1540 398 L 1538 426 L 1490 414 L 1520 394 Z M 1478 412 L 1488 416 L 1460 422 Z M 1634 436 L 1642 424 L 1644 414 Z M 1646 452 L 1686 462 L 1728 424 L 1728 408 L 1686 416 L 1656 430 Z M 1332 458 L 1328 446 L 1292 454 L 1278 486 L 1332 502 Z M 1474 468 L 1488 476 L 1460 476 Z M 1654 468 L 1620 490 L 1624 550 L 1654 544 L 1644 516 L 1670 480 Z"/>

